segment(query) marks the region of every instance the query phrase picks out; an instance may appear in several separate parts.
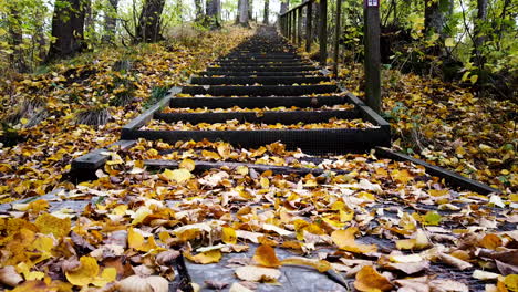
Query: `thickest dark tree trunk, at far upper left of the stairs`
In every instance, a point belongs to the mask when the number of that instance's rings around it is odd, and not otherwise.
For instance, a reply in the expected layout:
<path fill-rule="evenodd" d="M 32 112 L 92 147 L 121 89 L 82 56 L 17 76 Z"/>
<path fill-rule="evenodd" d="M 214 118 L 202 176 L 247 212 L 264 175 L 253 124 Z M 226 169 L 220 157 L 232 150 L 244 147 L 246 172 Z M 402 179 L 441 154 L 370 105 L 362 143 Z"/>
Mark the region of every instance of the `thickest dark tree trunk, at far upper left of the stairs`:
<path fill-rule="evenodd" d="M 82 0 L 58 0 L 52 17 L 52 39 L 46 62 L 69 58 L 84 45 L 84 4 Z"/>

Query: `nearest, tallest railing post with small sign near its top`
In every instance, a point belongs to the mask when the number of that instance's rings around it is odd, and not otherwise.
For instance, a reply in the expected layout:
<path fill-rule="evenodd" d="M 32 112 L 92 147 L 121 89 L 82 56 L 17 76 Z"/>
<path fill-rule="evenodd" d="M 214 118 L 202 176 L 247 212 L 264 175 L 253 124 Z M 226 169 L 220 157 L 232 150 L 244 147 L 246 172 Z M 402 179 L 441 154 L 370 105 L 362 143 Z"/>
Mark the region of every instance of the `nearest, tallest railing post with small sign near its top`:
<path fill-rule="evenodd" d="M 366 104 L 381 113 L 380 0 L 364 0 Z"/>

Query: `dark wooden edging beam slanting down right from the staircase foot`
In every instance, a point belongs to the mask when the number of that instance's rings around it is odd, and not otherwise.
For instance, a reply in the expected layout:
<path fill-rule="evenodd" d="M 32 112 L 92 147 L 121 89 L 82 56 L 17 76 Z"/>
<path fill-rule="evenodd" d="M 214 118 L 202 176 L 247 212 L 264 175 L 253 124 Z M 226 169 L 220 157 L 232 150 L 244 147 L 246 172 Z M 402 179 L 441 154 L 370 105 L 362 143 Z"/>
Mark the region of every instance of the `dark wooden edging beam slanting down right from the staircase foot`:
<path fill-rule="evenodd" d="M 481 184 L 479 181 L 469 179 L 467 177 L 463 177 L 463 176 L 460 176 L 458 174 L 446 170 L 446 169 L 444 169 L 442 167 L 438 167 L 438 166 L 435 166 L 435 165 L 431 165 L 431 164 L 428 164 L 426 161 L 423 161 L 421 159 L 416 159 L 416 158 L 411 157 L 408 155 L 401 154 L 401 153 L 395 153 L 395 152 L 392 152 L 391 149 L 385 148 L 385 147 L 376 147 L 375 149 L 376 149 L 376 154 L 379 154 L 382 157 L 390 158 L 390 159 L 393 159 L 393 160 L 398 160 L 398 161 L 411 161 L 413 164 L 421 165 L 426 169 L 426 171 L 429 175 L 437 176 L 439 178 L 444 178 L 448 184 L 450 184 L 453 186 L 456 186 L 456 187 L 459 187 L 459 188 L 465 188 L 465 189 L 472 190 L 472 191 L 476 191 L 476 192 L 481 194 L 481 195 L 488 195 L 488 194 L 493 194 L 493 192 L 500 192 L 500 190 L 491 188 L 489 186 L 486 186 L 486 185 L 484 185 L 484 184 Z"/>

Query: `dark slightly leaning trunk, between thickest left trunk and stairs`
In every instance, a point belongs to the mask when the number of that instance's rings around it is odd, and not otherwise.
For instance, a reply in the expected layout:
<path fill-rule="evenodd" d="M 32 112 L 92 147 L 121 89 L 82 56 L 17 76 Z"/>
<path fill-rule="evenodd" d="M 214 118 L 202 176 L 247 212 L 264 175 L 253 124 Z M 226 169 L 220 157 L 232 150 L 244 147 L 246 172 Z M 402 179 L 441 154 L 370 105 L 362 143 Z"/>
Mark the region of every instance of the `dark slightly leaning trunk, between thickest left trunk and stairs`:
<path fill-rule="evenodd" d="M 157 42 L 164 38 L 160 34 L 160 17 L 165 0 L 146 0 L 142 8 L 136 27 L 136 42 Z"/>

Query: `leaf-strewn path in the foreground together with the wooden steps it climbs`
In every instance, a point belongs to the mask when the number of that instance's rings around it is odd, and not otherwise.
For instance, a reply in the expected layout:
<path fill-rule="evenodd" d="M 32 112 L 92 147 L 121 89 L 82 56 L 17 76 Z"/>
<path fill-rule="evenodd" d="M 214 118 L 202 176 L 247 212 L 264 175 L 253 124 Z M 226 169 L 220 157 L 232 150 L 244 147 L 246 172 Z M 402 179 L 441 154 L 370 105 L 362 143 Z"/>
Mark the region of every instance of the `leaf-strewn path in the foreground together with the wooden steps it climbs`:
<path fill-rule="evenodd" d="M 370 152 L 388 125 L 274 31 L 190 82 L 79 160 L 96 179 L 1 206 L 2 284 L 516 291 L 516 204 Z"/>

